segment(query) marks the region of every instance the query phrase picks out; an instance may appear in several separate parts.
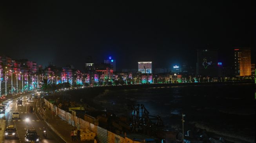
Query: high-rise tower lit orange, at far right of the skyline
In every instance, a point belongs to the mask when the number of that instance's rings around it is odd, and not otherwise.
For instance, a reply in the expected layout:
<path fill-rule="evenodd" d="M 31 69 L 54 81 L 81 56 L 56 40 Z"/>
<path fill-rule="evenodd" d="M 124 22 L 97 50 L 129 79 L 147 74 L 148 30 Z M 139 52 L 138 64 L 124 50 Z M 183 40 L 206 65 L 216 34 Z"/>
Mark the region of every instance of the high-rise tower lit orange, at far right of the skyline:
<path fill-rule="evenodd" d="M 236 76 L 250 76 L 252 74 L 250 48 L 234 48 L 234 74 Z"/>

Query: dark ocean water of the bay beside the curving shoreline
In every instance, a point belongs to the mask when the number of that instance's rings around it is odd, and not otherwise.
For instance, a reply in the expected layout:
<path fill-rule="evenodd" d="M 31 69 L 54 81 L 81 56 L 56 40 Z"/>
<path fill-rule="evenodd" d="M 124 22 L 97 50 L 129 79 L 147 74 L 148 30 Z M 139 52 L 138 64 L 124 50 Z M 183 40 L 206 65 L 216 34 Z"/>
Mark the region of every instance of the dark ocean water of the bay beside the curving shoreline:
<path fill-rule="evenodd" d="M 151 115 L 161 116 L 173 129 L 181 128 L 183 113 L 185 130 L 196 126 L 237 142 L 254 142 L 254 84 L 105 91 L 95 100 L 119 114 L 125 110 L 124 104 L 144 104 Z"/>

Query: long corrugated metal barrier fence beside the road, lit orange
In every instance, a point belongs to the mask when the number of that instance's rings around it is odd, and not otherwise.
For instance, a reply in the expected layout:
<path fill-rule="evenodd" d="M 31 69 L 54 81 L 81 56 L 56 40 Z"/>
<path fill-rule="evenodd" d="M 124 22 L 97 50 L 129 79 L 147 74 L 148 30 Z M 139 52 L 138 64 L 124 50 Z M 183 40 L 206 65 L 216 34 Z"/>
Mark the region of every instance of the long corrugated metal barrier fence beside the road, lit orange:
<path fill-rule="evenodd" d="M 62 120 L 66 121 L 73 127 L 94 132 L 96 134 L 96 139 L 99 143 L 141 143 L 138 141 L 133 141 L 132 139 L 126 137 L 122 138 L 121 136 L 114 134 L 113 132 L 94 125 L 93 123 L 89 123 L 81 118 L 78 118 L 77 116 L 74 116 L 71 113 L 54 106 L 46 99 L 44 99 L 44 102 L 47 107 L 51 108 L 51 111 L 53 111 L 56 116 L 59 116 L 60 118 L 62 118 Z M 82 134 L 83 133 L 81 133 L 81 135 Z"/>

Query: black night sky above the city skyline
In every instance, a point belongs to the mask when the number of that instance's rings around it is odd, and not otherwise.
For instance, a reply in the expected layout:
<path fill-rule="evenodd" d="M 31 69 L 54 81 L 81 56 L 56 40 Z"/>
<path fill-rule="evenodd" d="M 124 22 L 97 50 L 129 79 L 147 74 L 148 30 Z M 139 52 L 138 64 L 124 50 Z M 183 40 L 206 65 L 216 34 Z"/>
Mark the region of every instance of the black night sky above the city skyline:
<path fill-rule="evenodd" d="M 87 56 L 112 56 L 122 70 L 138 61 L 195 66 L 196 49 L 207 46 L 225 65 L 233 47 L 255 47 L 253 1 L 41 2 L 0 2 L 0 55 L 80 69 Z"/>

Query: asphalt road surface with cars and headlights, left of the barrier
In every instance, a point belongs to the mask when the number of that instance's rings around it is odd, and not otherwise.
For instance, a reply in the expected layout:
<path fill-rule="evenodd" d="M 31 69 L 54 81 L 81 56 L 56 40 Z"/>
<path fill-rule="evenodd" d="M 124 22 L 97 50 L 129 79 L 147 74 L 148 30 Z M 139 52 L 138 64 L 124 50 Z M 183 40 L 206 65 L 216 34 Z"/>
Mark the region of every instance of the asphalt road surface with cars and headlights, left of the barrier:
<path fill-rule="evenodd" d="M 28 93 L 27 95 L 31 95 Z M 24 99 L 22 100 L 23 106 L 17 106 L 17 99 L 13 99 L 13 103 L 5 109 L 5 114 L 0 114 L 0 142 L 1 143 L 24 143 L 24 136 L 27 129 L 35 129 L 39 134 L 40 143 L 65 143 L 61 138 L 59 138 L 53 131 L 51 131 L 46 123 L 43 120 L 40 120 L 38 116 L 34 113 L 30 113 L 30 106 L 35 107 L 35 102 L 37 99 L 28 101 L 25 99 L 27 95 L 23 95 Z M 12 119 L 12 113 L 20 112 L 20 119 Z M 25 118 L 29 118 L 29 122 L 25 122 Z M 7 138 L 5 139 L 4 131 L 8 125 L 16 125 L 17 137 L 16 138 Z M 46 128 L 47 137 L 43 136 L 43 127 Z"/>

